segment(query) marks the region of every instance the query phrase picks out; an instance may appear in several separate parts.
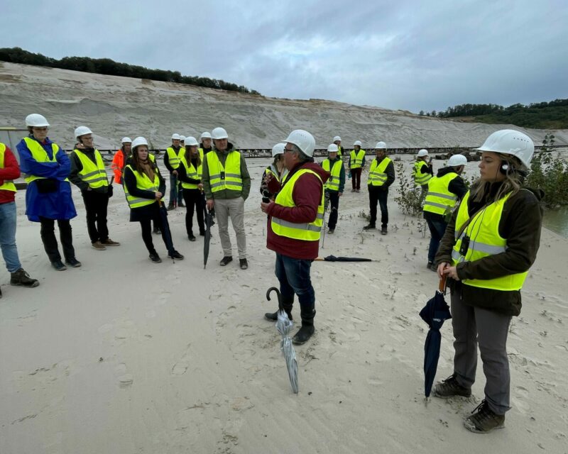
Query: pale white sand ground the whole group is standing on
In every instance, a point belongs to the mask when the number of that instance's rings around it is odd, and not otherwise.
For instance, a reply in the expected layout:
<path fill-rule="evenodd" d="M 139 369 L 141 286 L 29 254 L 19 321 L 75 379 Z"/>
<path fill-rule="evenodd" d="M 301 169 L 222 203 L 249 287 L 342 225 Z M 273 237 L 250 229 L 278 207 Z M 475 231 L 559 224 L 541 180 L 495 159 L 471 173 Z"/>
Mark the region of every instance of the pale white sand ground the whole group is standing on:
<path fill-rule="evenodd" d="M 18 193 L 21 260 L 41 284 L 21 289 L 8 285 L 6 272 L 0 277 L 0 453 L 568 452 L 566 238 L 543 231 L 510 328 L 506 428 L 475 435 L 461 421 L 483 398 L 481 360 L 474 397 L 424 401 L 427 326 L 418 311 L 437 278 L 425 267 L 420 219 L 403 216 L 391 194 L 388 236 L 363 233 L 367 194 L 348 186 L 321 255 L 378 262 L 312 265 L 317 331 L 296 348 L 295 395 L 278 333 L 263 320 L 275 309 L 266 289 L 277 284 L 258 208 L 266 163 L 249 160 L 246 271 L 235 262 L 219 267 L 216 227 L 204 270 L 202 239 L 185 239 L 181 209 L 170 226 L 185 260 L 153 265 L 116 188 L 109 225 L 121 246 L 89 247 L 74 190 L 83 266 L 56 272 Z M 299 319 L 297 306 L 293 313 Z M 438 380 L 451 374 L 452 352 L 447 322 Z"/>

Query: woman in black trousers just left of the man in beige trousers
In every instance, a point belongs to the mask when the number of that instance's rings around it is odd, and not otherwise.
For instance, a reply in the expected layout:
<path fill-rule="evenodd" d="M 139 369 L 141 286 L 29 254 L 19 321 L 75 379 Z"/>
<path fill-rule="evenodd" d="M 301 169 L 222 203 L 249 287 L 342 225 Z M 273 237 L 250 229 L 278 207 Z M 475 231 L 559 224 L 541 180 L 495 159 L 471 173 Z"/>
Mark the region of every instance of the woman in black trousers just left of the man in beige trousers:
<path fill-rule="evenodd" d="M 180 151 L 180 165 L 178 167 L 178 179 L 182 184 L 183 199 L 185 200 L 185 230 L 187 238 L 195 241 L 193 234 L 193 211 L 197 211 L 197 226 L 200 228 L 200 236 L 205 236 L 205 223 L 203 211 L 205 209 L 203 199 L 203 162 L 200 151 L 197 149 L 195 137 L 185 138 L 185 150 Z"/>

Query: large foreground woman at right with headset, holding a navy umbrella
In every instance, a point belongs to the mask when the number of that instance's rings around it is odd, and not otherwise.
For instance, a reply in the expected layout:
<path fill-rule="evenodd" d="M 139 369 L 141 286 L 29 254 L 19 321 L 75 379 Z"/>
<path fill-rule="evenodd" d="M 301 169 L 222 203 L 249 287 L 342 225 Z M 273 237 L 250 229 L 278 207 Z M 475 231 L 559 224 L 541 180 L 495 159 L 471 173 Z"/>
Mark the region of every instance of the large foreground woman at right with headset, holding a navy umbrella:
<path fill-rule="evenodd" d="M 521 188 L 535 150 L 528 135 L 497 131 L 478 150 L 480 178 L 454 211 L 435 258 L 438 275 L 451 278 L 455 355 L 454 373 L 434 394 L 471 395 L 479 345 L 485 397 L 464 425 L 487 433 L 504 426 L 510 409 L 507 335 L 540 244 L 542 191 Z"/>

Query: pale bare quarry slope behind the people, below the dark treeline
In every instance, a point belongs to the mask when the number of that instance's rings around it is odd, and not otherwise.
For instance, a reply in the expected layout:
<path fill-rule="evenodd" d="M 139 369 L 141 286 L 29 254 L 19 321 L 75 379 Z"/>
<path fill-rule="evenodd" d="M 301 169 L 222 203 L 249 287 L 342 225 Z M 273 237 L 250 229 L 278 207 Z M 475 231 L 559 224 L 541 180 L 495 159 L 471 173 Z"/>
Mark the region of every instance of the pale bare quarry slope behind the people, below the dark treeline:
<path fill-rule="evenodd" d="M 344 145 L 362 140 L 364 148 L 377 140 L 391 148 L 473 147 L 507 127 L 0 62 L 0 126 L 21 127 L 32 112 L 48 117 L 50 135 L 64 148 L 74 145 L 72 133 L 79 125 L 93 129 L 102 149 L 116 148 L 124 135 L 144 135 L 153 147 L 164 148 L 173 132 L 197 136 L 215 126 L 224 126 L 236 145 L 250 148 L 271 148 L 296 128 L 312 132 L 322 148 L 338 134 Z M 537 144 L 550 132 L 523 131 Z M 555 136 L 558 145 L 568 145 L 567 130 L 555 131 Z"/>

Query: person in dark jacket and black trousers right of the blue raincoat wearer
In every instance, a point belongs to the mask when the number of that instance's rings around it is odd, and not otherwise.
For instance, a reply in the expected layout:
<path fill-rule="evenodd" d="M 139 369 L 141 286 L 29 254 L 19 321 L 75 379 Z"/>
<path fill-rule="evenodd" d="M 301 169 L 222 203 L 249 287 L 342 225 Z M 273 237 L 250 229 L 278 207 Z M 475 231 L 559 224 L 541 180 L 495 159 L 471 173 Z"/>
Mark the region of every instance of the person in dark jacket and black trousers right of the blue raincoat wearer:
<path fill-rule="evenodd" d="M 87 126 L 76 128 L 75 137 L 77 147 L 70 155 L 69 180 L 81 189 L 91 247 L 105 250 L 107 246 L 119 246 L 120 243 L 109 238 L 107 210 L 112 184 L 109 184 L 101 153 L 94 148 L 92 131 Z"/>

